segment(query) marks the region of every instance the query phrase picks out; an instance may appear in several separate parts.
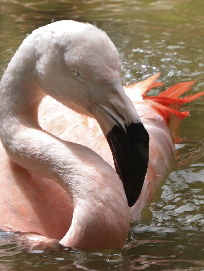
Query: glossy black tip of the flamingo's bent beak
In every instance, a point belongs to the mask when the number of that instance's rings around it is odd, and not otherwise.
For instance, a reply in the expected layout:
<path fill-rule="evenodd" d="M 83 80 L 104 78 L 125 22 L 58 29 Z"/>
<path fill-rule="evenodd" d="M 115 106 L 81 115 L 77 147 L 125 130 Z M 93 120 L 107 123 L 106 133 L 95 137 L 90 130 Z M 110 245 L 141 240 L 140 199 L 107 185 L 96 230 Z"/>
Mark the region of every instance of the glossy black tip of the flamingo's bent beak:
<path fill-rule="evenodd" d="M 129 207 L 140 196 L 149 162 L 149 134 L 141 122 L 115 125 L 107 134 L 116 172 L 123 182 Z"/>

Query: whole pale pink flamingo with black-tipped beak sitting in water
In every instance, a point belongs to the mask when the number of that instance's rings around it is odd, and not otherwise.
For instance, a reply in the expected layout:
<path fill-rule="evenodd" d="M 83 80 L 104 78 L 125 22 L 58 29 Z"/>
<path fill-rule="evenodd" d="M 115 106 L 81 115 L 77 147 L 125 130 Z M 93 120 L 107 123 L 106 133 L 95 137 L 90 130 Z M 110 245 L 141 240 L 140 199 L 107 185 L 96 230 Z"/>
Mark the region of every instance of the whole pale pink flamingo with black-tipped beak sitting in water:
<path fill-rule="evenodd" d="M 175 153 L 169 113 L 189 113 L 169 105 L 203 95 L 179 99 L 187 82 L 147 96 L 158 76 L 123 89 L 94 25 L 34 30 L 0 82 L 0 229 L 34 246 L 123 247 L 129 207 L 138 218 Z"/>

